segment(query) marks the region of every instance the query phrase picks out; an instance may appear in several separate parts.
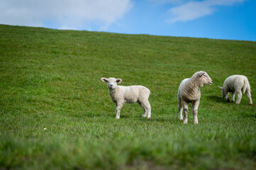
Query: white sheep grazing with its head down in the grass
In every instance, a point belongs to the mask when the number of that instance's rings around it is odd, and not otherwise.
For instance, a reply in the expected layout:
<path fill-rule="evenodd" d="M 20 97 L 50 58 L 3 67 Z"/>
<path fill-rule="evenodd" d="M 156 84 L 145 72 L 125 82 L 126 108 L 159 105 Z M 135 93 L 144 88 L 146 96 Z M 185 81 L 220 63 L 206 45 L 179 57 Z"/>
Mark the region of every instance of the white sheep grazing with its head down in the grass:
<path fill-rule="evenodd" d="M 247 95 L 250 106 L 252 106 L 252 97 L 250 95 L 250 84 L 247 77 L 243 75 L 233 75 L 228 77 L 223 84 L 223 87 L 218 86 L 222 91 L 223 98 L 226 98 L 229 101 L 228 94 L 232 93 L 231 102 L 235 101 L 235 93 L 238 94 L 238 99 L 235 104 L 239 104 L 242 99 L 242 91 L 243 94 Z"/>

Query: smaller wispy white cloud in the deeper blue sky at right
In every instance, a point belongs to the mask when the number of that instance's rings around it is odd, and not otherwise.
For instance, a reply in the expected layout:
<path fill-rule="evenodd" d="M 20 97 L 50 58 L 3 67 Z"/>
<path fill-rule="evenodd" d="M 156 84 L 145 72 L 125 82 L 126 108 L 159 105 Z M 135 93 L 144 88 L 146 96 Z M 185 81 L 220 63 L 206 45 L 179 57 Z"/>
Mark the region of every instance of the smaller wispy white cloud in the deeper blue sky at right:
<path fill-rule="evenodd" d="M 205 0 L 189 1 L 181 6 L 170 8 L 168 13 L 171 14 L 169 22 L 191 21 L 196 18 L 208 16 L 216 10 L 216 6 L 231 6 L 237 2 L 245 0 Z"/>

